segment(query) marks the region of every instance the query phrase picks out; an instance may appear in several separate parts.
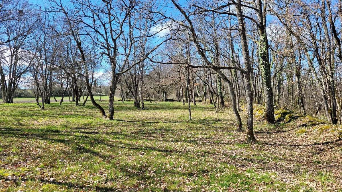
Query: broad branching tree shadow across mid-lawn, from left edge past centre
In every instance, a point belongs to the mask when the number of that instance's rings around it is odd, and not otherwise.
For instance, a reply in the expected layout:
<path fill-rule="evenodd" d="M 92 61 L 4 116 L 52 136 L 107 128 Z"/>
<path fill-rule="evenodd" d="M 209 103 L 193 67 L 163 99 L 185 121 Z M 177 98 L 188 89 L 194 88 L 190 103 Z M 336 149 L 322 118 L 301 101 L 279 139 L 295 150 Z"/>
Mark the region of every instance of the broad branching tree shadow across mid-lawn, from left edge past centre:
<path fill-rule="evenodd" d="M 29 130 L 27 132 L 27 130 Z M 76 133 L 76 134 L 75 134 Z M 2 137 L 12 137 L 12 138 L 25 138 L 25 139 L 39 139 L 39 140 L 47 140 L 51 142 L 57 142 L 57 143 L 63 143 L 64 145 L 70 146 L 73 150 L 75 150 L 79 154 L 88 153 L 95 155 L 97 157 L 100 157 L 101 159 L 107 159 L 109 157 L 108 154 L 101 154 L 97 152 L 96 150 L 92 149 L 92 147 L 96 147 L 97 145 L 104 145 L 111 150 L 115 149 L 129 149 L 129 150 L 135 150 L 135 151 L 156 151 L 165 153 L 165 155 L 180 155 L 184 157 L 193 157 L 193 156 L 203 156 L 203 155 L 211 155 L 212 153 L 207 151 L 181 151 L 177 149 L 165 149 L 159 148 L 159 147 L 153 147 L 153 146 L 142 146 L 138 144 L 132 144 L 127 143 L 123 141 L 127 141 L 130 139 L 146 139 L 144 136 L 147 132 L 136 132 L 138 135 L 134 134 L 123 134 L 123 133 L 117 133 L 117 132 L 109 132 L 106 133 L 106 135 L 111 136 L 123 136 L 116 137 L 116 140 L 113 140 L 111 142 L 107 142 L 104 140 L 100 140 L 99 138 L 96 138 L 94 136 L 88 136 L 88 135 L 79 135 L 83 134 L 83 132 L 55 132 L 54 130 L 44 130 L 42 129 L 21 129 L 21 128 L 4 128 L 0 129 L 0 135 Z M 153 132 L 151 132 L 153 133 Z M 75 139 L 65 139 L 64 137 L 74 137 Z M 147 139 L 148 141 L 160 141 L 157 139 Z M 169 140 L 165 140 L 166 142 L 170 142 Z M 181 141 L 181 140 L 175 140 L 173 142 L 194 142 L 194 141 Z M 86 147 L 90 146 L 90 147 Z"/>

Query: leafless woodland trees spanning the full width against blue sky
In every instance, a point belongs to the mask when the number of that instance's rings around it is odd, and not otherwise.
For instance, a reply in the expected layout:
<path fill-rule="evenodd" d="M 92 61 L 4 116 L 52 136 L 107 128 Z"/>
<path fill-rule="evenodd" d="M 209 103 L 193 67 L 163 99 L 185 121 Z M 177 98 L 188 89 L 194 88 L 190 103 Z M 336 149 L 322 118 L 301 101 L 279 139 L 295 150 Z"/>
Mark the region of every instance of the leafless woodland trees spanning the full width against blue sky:
<path fill-rule="evenodd" d="M 232 107 L 237 130 L 253 104 L 287 108 L 331 123 L 342 122 L 341 1 L 136 1 L 104 0 L 0 6 L 0 77 L 3 102 L 18 87 L 37 105 L 56 94 L 87 100 L 114 118 L 122 102 L 174 98 L 191 105 Z M 58 88 L 57 88 L 58 87 Z M 67 94 L 68 93 L 68 94 Z M 108 95 L 108 111 L 94 99 Z M 86 98 L 81 102 L 81 96 Z M 244 104 L 242 108 L 241 105 Z"/>

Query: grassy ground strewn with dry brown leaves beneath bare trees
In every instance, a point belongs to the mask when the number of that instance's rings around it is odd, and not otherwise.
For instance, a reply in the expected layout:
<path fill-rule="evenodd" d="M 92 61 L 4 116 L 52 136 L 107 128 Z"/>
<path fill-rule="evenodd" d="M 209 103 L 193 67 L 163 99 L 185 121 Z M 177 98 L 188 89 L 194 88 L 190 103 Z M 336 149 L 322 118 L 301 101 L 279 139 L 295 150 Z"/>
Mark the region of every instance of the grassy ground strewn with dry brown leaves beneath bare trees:
<path fill-rule="evenodd" d="M 229 107 L 145 106 L 0 104 L 0 191 L 342 191 L 340 126 L 256 118 L 249 143 Z"/>

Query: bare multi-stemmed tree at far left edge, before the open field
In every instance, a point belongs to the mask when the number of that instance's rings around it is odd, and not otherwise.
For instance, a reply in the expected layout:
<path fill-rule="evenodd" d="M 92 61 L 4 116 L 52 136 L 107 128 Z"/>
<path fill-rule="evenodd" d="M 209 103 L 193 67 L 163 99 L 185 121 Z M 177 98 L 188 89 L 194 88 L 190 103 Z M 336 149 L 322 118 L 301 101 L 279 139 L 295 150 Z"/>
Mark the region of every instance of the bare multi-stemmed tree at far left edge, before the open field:
<path fill-rule="evenodd" d="M 17 10 L 18 1 L 14 8 L 10 8 L 11 13 L 1 13 L 0 37 L 0 87 L 2 100 L 5 103 L 13 102 L 13 94 L 16 88 L 23 82 L 25 74 L 28 72 L 35 50 L 32 50 L 30 41 L 35 30 L 38 16 L 30 10 L 28 4 L 22 4 L 23 10 Z M 6 3 L 11 3 L 6 1 Z M 1 9 L 3 8 L 1 6 Z M 15 19 L 14 19 L 15 18 Z"/>

